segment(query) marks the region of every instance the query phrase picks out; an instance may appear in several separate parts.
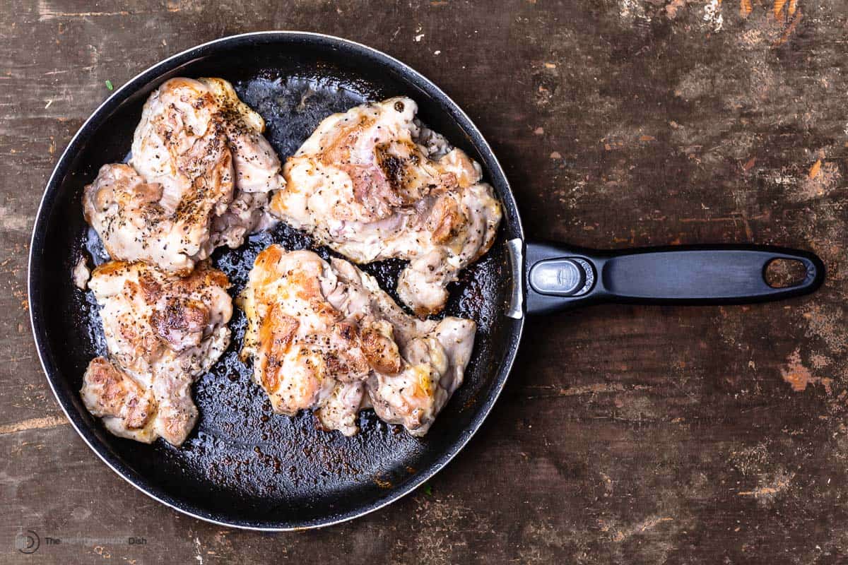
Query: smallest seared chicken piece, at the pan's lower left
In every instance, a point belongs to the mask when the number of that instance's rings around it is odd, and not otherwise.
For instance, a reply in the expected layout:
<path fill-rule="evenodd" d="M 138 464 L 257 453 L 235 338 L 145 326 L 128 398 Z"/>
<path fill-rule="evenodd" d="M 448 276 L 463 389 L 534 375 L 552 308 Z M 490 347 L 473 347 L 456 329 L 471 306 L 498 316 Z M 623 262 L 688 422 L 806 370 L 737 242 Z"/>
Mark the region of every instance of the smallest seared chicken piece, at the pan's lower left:
<path fill-rule="evenodd" d="M 185 278 L 146 263 L 113 261 L 88 287 L 101 306 L 109 359 L 89 363 L 81 396 L 114 435 L 175 446 L 198 417 L 192 382 L 230 343 L 226 275 L 199 263 Z"/>

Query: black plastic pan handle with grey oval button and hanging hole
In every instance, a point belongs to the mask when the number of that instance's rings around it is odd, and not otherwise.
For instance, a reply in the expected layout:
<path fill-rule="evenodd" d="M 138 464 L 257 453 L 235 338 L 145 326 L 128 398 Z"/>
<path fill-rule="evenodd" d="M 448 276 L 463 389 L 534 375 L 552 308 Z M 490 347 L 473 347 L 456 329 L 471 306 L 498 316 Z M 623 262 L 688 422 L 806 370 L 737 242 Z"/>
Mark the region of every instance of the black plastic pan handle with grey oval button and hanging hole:
<path fill-rule="evenodd" d="M 810 252 L 773 246 L 670 246 L 596 251 L 527 243 L 527 313 L 597 302 L 739 304 L 809 294 L 824 281 Z M 775 288 L 765 272 L 775 259 L 800 261 L 806 276 Z"/>

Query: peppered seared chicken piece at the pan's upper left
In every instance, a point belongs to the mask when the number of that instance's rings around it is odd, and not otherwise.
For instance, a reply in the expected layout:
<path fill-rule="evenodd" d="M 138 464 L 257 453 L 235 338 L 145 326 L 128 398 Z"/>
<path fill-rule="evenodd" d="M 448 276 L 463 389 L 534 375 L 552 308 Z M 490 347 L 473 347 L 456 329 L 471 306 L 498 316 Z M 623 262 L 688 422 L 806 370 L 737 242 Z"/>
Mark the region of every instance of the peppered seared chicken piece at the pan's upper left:
<path fill-rule="evenodd" d="M 83 210 L 113 259 L 187 274 L 271 224 L 284 186 L 265 122 L 221 79 L 176 78 L 144 104 L 129 165 L 104 165 Z"/>

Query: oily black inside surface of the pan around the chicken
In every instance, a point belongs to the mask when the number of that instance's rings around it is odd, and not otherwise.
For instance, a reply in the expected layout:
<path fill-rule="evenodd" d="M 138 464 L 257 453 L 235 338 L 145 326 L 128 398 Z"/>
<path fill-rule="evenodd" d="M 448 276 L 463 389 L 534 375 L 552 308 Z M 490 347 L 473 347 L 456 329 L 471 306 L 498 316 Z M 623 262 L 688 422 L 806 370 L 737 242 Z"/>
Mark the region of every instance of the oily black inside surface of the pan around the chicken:
<path fill-rule="evenodd" d="M 264 391 L 250 379 L 250 368 L 237 359 L 244 330 L 243 313 L 237 309 L 230 348 L 195 385 L 200 418 L 181 448 L 164 440 L 147 446 L 116 438 L 82 407 L 82 374 L 105 347 L 92 296 L 77 290 L 70 279 L 70 269 L 84 249 L 96 263 L 104 259 L 97 235 L 82 219 L 81 191 L 102 164 L 126 159 L 142 104 L 162 81 L 176 75 L 231 80 L 239 96 L 265 118 L 266 136 L 283 159 L 326 115 L 368 100 L 408 95 L 419 103 L 422 121 L 486 163 L 471 132 L 445 111 L 447 102 L 368 53 L 341 53 L 338 46 L 321 42 L 233 42 L 170 66 L 174 68 L 144 80 L 108 115 L 92 119 L 48 187 L 43 221 L 34 238 L 31 307 L 59 402 L 86 440 L 121 474 L 202 518 L 248 527 L 310 526 L 353 516 L 399 496 L 463 445 L 488 413 L 505 378 L 520 332 L 519 322 L 503 316 L 511 285 L 505 240 L 521 235 L 516 231 L 520 228 L 510 226 L 509 214 L 493 249 L 450 289 L 446 313 L 474 319 L 477 341 L 465 383 L 424 438 L 382 423 L 371 411 L 361 413 L 361 433 L 350 438 L 316 430 L 311 413 L 296 418 L 272 413 Z M 499 174 L 488 174 L 486 180 L 511 202 Z M 213 259 L 229 275 L 233 296 L 243 287 L 256 255 L 274 242 L 288 249 L 315 249 L 307 235 L 282 224 L 252 236 L 239 249 L 219 249 Z M 315 250 L 325 258 L 329 254 Z M 386 261 L 364 269 L 393 293 L 402 264 Z"/>

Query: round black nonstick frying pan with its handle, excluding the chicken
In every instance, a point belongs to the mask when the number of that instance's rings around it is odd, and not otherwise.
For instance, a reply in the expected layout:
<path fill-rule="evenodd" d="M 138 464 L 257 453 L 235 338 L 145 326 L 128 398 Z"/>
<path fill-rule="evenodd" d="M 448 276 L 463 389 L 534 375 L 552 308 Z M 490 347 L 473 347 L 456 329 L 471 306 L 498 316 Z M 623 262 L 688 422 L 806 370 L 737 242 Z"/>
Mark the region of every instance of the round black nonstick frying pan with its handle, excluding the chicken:
<path fill-rule="evenodd" d="M 446 312 L 479 326 L 466 382 L 427 436 L 416 439 L 360 416 L 360 435 L 317 431 L 310 413 L 276 416 L 265 393 L 237 360 L 244 319 L 232 321 L 230 349 L 198 380 L 196 429 L 180 448 L 146 446 L 103 429 L 78 391 L 88 361 L 104 345 L 94 302 L 72 284 L 83 249 L 105 260 L 82 219 L 82 187 L 103 163 L 124 160 L 149 93 L 177 75 L 231 80 L 259 111 L 282 158 L 292 154 L 327 114 L 366 100 L 407 95 L 420 117 L 483 165 L 504 205 L 492 250 L 452 286 Z M 310 247 L 310 238 L 280 226 L 214 261 L 243 286 L 256 254 L 271 242 Z M 325 257 L 326 249 L 318 249 Z M 803 265 L 801 282 L 772 288 L 767 263 Z M 365 267 L 393 291 L 401 263 Z M 468 116 L 443 91 L 398 60 L 330 36 L 265 32 L 194 47 L 144 71 L 114 92 L 70 141 L 47 183 L 32 235 L 29 298 L 32 330 L 44 371 L 71 424 L 103 461 L 139 490 L 197 518 L 251 529 L 298 529 L 338 523 L 404 496 L 443 468 L 491 410 L 514 358 L 525 313 L 583 303 L 755 302 L 798 296 L 821 285 L 823 264 L 806 252 L 712 246 L 594 252 L 526 243 L 503 169 Z"/>

